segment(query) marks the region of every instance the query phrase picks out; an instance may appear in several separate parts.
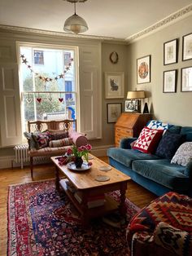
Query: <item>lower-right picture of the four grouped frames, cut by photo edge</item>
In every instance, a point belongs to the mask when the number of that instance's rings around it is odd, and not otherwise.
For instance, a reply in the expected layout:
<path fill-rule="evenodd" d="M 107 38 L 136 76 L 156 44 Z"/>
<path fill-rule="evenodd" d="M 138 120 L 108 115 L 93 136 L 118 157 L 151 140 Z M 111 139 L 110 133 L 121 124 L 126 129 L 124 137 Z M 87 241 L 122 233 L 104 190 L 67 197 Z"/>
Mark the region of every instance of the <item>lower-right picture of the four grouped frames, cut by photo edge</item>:
<path fill-rule="evenodd" d="M 181 91 L 192 91 L 192 67 L 181 68 Z"/>

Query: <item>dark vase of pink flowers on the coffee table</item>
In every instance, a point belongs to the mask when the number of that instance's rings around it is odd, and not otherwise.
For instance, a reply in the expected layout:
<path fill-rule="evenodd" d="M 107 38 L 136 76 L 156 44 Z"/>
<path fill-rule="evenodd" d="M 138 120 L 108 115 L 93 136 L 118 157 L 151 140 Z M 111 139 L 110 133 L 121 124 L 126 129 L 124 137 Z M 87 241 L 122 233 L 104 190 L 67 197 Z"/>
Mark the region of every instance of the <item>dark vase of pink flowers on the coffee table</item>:
<path fill-rule="evenodd" d="M 68 148 L 67 155 L 68 157 L 72 158 L 72 161 L 74 161 L 76 169 L 81 168 L 83 164 L 82 157 L 85 158 L 85 161 L 88 162 L 88 165 L 91 165 L 91 163 L 89 163 L 89 158 L 88 158 L 91 148 L 92 147 L 90 144 L 87 144 L 81 147 L 76 147 L 76 145 L 74 144 L 72 145 L 72 148 Z"/>

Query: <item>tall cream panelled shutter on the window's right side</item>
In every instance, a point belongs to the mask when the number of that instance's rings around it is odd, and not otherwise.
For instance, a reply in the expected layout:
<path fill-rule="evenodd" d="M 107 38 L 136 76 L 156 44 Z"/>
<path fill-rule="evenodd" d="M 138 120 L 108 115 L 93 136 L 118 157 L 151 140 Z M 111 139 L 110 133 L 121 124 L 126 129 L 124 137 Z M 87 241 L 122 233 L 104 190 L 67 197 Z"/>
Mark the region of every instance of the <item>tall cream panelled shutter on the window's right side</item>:
<path fill-rule="evenodd" d="M 101 44 L 80 46 L 80 130 L 88 139 L 102 137 Z"/>

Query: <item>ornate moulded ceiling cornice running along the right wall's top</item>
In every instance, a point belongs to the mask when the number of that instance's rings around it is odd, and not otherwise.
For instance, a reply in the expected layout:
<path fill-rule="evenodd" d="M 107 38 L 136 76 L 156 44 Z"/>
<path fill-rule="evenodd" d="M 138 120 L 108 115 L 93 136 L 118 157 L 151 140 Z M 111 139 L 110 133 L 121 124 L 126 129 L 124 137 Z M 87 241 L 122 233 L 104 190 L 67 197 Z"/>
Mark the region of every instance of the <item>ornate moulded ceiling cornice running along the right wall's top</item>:
<path fill-rule="evenodd" d="M 168 15 L 163 20 L 158 21 L 157 23 L 151 25 L 150 27 L 143 29 L 142 31 L 133 34 L 129 38 L 125 38 L 125 41 L 128 43 L 136 42 L 139 39 L 145 38 L 151 33 L 155 33 L 160 29 L 164 29 L 166 26 L 171 25 L 178 20 L 184 19 L 185 17 L 192 14 L 192 4 L 187 7 L 182 8 L 179 11 L 172 13 L 172 15 Z"/>

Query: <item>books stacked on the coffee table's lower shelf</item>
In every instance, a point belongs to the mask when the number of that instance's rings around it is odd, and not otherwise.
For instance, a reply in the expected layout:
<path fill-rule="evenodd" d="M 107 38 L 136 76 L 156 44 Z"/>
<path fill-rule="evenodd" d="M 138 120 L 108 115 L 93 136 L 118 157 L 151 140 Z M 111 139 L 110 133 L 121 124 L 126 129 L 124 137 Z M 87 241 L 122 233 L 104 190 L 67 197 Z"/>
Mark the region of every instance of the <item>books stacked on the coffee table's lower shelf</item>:
<path fill-rule="evenodd" d="M 74 193 L 74 197 L 81 204 L 82 193 L 77 191 Z M 87 202 L 87 206 L 89 209 L 98 207 L 98 206 L 102 206 L 104 204 L 105 204 L 105 195 L 104 194 L 100 194 L 100 195 L 96 195 L 96 196 L 89 196 L 88 202 Z"/>

